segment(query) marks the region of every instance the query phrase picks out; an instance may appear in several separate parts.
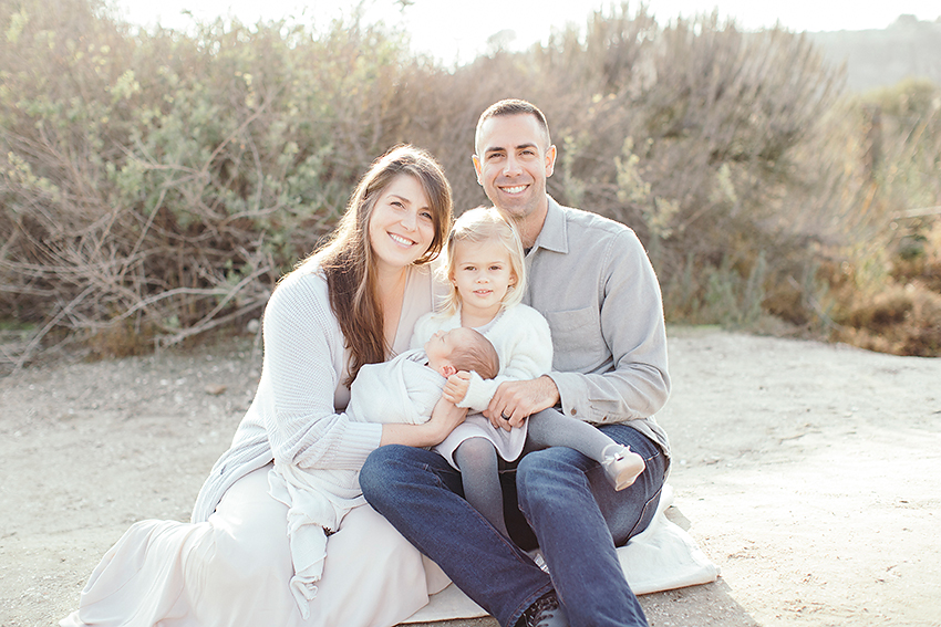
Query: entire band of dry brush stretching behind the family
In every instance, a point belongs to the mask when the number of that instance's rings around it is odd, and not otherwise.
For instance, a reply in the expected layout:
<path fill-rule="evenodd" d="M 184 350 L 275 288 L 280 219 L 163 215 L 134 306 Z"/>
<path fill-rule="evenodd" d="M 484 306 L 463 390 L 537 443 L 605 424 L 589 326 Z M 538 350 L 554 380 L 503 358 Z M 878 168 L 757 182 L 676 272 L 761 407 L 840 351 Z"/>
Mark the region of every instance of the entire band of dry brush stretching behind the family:
<path fill-rule="evenodd" d="M 438 156 L 458 212 L 486 202 L 474 127 L 510 96 L 549 117 L 550 192 L 639 233 L 672 322 L 772 314 L 861 337 L 882 315 L 865 312 L 902 294 L 892 320 L 930 327 L 938 91 L 837 100 L 840 72 L 800 35 L 715 15 L 661 25 L 622 3 L 445 69 L 355 12 L 187 34 L 131 31 L 99 0 L 53 9 L 0 6 L 0 321 L 17 337 L 0 363 L 60 338 L 133 353 L 258 316 L 397 143 Z M 882 302 L 892 281 L 914 288 Z"/>

